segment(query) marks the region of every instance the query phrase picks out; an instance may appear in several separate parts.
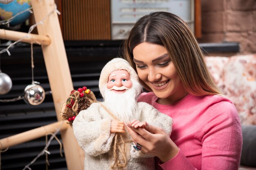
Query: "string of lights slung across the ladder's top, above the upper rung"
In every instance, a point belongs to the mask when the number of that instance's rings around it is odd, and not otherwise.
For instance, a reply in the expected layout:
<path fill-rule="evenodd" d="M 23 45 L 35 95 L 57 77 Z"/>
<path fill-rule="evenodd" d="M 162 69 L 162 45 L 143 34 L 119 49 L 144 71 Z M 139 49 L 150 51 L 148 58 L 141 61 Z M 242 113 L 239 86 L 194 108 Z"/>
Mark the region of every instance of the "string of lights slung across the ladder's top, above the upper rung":
<path fill-rule="evenodd" d="M 56 12 L 58 15 L 61 15 L 60 11 L 57 10 L 56 4 L 55 4 L 55 6 L 54 6 L 54 9 L 53 9 L 52 11 L 50 11 L 50 12 L 43 18 L 43 20 L 40 20 L 39 22 L 37 22 L 36 24 L 32 25 L 32 26 L 29 28 L 29 31 L 28 31 L 27 35 L 25 35 L 24 37 L 18 39 L 18 40 L 15 41 L 15 42 L 11 43 L 7 48 L 1 50 L 1 51 L 0 51 L 0 54 L 1 54 L 1 53 L 4 53 L 4 52 L 7 52 L 8 55 L 10 56 L 11 53 L 9 52 L 9 48 L 11 48 L 13 45 L 17 44 L 18 42 L 22 41 L 22 39 L 29 38 L 29 34 L 34 30 L 34 28 L 36 28 L 36 26 L 37 26 L 38 24 L 43 24 L 43 22 L 46 20 L 46 18 L 47 18 L 49 15 L 51 15 L 52 13 L 54 13 L 54 12 Z"/>

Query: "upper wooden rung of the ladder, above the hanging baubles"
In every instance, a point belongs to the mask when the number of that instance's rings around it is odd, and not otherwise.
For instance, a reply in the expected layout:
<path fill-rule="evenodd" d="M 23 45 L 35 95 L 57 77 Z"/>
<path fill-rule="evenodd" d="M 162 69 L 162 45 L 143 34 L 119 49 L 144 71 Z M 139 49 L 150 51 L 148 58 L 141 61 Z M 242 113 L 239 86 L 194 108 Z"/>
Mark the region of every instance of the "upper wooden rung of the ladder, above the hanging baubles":
<path fill-rule="evenodd" d="M 51 39 L 45 35 L 36 35 L 36 34 L 29 34 L 28 37 L 27 33 L 22 33 L 19 31 L 10 31 L 5 29 L 0 29 L 0 39 L 9 39 L 12 41 L 17 41 L 23 37 L 21 41 L 26 43 L 34 43 L 34 44 L 41 44 L 48 46 L 51 44 Z"/>

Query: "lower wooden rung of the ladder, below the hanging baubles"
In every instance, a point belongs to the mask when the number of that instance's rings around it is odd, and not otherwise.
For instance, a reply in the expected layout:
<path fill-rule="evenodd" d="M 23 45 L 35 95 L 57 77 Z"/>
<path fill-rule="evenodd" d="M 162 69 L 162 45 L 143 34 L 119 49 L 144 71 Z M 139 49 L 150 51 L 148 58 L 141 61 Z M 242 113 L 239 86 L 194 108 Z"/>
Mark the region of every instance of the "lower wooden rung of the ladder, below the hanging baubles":
<path fill-rule="evenodd" d="M 47 133 L 54 133 L 58 128 L 60 128 L 60 131 L 63 131 L 67 129 L 69 126 L 70 125 L 63 120 L 45 126 L 41 126 L 26 132 L 22 132 L 17 135 L 5 137 L 3 139 L 0 139 L 0 150 L 31 141 L 39 137 L 43 137 Z"/>

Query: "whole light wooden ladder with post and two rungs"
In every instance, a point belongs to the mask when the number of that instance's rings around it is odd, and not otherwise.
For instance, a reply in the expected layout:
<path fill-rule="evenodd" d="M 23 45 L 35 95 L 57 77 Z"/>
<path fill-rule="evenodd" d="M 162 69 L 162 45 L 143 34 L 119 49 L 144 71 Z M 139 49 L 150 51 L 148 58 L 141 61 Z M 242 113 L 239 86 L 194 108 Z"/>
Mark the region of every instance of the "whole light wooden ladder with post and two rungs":
<path fill-rule="evenodd" d="M 56 7 L 54 0 L 31 0 L 31 3 L 36 23 L 43 20 Z M 40 44 L 42 47 L 56 116 L 59 122 L 0 139 L 2 144 L 0 149 L 42 137 L 47 132 L 54 132 L 61 124 L 59 118 L 61 105 L 69 96 L 70 91 L 74 89 L 57 13 L 54 12 L 49 15 L 43 24 L 38 24 L 37 31 L 38 35 L 29 34 L 29 38 L 22 39 L 21 41 Z M 26 35 L 27 33 L 0 29 L 1 39 L 17 41 Z M 67 168 L 69 170 L 83 170 L 83 150 L 74 137 L 73 129 L 66 122 L 64 122 L 61 128 L 61 138 Z"/>

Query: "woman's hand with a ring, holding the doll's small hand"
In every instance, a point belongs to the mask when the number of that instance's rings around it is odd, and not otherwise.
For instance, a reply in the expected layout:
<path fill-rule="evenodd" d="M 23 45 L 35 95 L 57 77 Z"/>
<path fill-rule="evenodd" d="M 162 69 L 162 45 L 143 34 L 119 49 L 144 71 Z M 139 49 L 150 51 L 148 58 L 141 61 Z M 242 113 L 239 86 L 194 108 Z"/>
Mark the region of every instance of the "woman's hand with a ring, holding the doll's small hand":
<path fill-rule="evenodd" d="M 126 129 L 135 144 L 140 144 L 141 152 L 158 157 L 163 163 L 172 159 L 179 152 L 179 148 L 171 140 L 169 135 L 161 128 L 146 122 L 144 129 L 135 128 L 139 122 L 126 124 Z"/>

